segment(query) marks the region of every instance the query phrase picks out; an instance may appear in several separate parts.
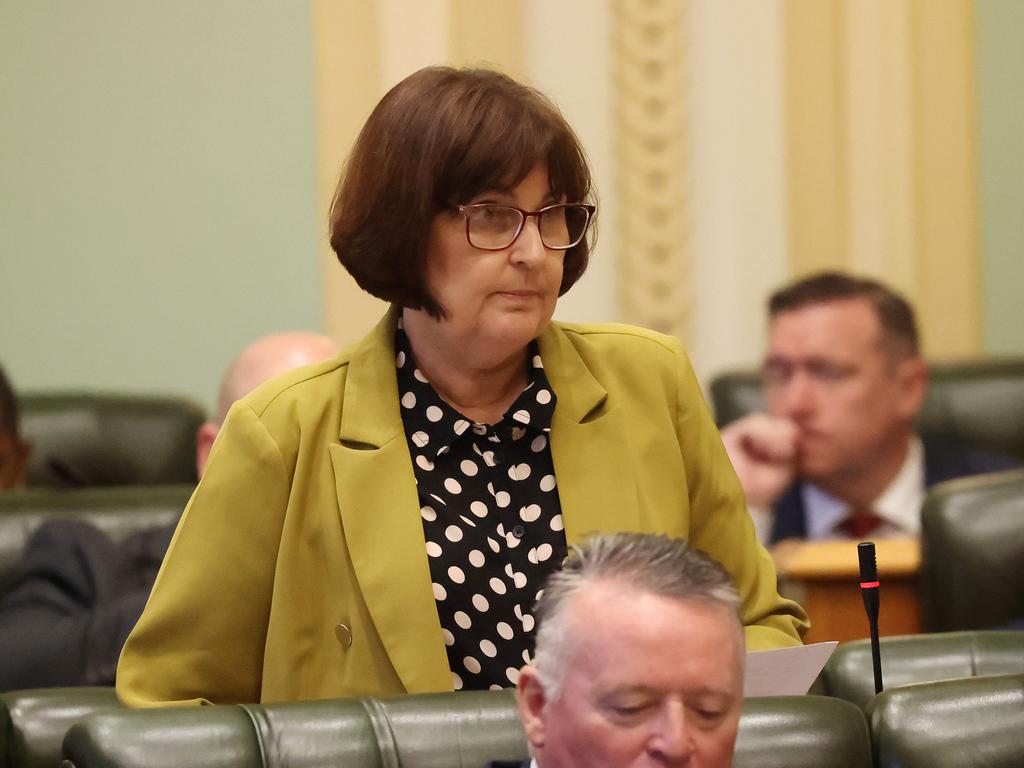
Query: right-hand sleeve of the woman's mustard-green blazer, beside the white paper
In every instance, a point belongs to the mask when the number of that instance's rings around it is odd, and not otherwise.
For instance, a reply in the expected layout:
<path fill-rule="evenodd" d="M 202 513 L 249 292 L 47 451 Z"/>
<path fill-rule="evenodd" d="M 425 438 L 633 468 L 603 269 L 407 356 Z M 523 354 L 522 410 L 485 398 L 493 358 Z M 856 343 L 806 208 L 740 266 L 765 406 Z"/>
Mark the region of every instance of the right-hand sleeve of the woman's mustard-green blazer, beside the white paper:
<path fill-rule="evenodd" d="M 778 594 L 775 566 L 758 542 L 736 473 L 682 346 L 676 358 L 676 430 L 686 468 L 690 543 L 732 574 L 742 600 L 749 650 L 799 645 L 810 624 Z"/>

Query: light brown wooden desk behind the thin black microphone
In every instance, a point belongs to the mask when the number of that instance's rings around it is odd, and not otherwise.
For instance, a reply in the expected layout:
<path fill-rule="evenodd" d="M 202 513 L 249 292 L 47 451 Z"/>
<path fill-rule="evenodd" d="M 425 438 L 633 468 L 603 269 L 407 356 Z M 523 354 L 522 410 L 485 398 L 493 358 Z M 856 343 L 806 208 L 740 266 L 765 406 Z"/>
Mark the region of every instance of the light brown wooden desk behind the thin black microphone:
<path fill-rule="evenodd" d="M 874 542 L 874 551 L 882 583 L 879 634 L 921 632 L 921 543 L 916 539 L 881 539 Z M 772 557 L 780 591 L 803 605 L 811 617 L 805 642 L 868 636 L 856 542 L 780 542 Z"/>

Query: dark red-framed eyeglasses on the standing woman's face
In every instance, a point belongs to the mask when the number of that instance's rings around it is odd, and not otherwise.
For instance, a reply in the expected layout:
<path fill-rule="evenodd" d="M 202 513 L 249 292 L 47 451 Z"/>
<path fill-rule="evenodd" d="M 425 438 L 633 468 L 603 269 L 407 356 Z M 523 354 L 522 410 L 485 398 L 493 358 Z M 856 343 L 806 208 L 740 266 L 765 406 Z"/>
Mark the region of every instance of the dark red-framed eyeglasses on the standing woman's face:
<path fill-rule="evenodd" d="M 522 233 L 526 219 L 537 216 L 544 247 L 565 251 L 580 245 L 597 207 L 585 203 L 557 203 L 540 211 L 524 211 L 515 206 L 477 203 L 458 206 L 458 210 L 466 217 L 466 240 L 473 248 L 503 251 Z"/>

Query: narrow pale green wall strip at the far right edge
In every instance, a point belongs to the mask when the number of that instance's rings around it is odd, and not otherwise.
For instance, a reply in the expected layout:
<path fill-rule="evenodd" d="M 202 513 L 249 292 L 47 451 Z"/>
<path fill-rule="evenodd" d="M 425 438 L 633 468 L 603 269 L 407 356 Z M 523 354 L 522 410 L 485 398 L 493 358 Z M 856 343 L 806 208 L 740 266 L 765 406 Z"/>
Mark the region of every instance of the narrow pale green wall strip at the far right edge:
<path fill-rule="evenodd" d="M 1024 2 L 978 0 L 985 349 L 1024 354 Z"/>

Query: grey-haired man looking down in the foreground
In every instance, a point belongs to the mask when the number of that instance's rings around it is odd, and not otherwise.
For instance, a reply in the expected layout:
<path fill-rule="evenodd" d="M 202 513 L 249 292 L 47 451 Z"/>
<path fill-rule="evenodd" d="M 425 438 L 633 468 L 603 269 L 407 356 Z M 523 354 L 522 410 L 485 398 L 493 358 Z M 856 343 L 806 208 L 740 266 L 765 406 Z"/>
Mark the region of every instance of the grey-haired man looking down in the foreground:
<path fill-rule="evenodd" d="M 732 763 L 743 627 L 725 568 L 686 542 L 595 536 L 538 605 L 517 698 L 535 768 Z"/>

